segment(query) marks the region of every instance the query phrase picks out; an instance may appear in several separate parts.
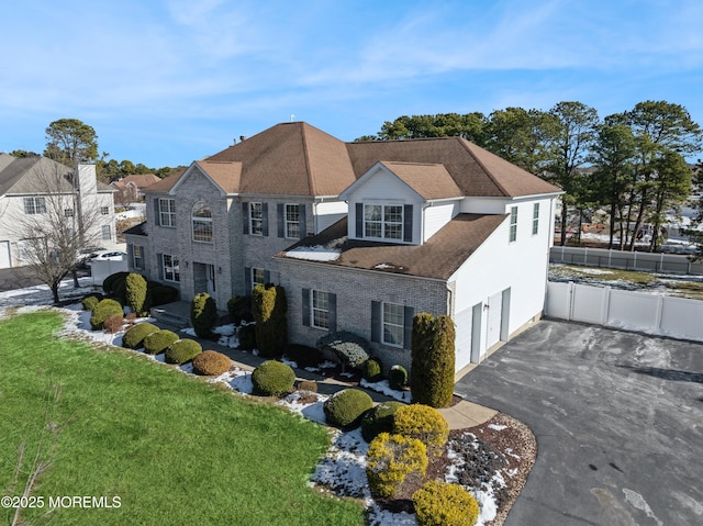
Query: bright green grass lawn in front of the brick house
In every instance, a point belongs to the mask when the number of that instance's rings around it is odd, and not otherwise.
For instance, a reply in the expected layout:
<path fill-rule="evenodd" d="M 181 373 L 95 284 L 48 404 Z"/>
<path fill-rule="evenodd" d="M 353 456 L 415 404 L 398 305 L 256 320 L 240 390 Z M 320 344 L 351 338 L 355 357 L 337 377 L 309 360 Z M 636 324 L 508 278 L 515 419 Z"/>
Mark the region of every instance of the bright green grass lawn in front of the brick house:
<path fill-rule="evenodd" d="M 58 339 L 60 325 L 52 312 L 0 323 L 0 493 L 24 444 L 10 494 L 41 449 L 51 466 L 33 495 L 116 495 L 121 506 L 26 510 L 30 524 L 364 524 L 357 502 L 308 486 L 324 427 L 127 351 Z"/>

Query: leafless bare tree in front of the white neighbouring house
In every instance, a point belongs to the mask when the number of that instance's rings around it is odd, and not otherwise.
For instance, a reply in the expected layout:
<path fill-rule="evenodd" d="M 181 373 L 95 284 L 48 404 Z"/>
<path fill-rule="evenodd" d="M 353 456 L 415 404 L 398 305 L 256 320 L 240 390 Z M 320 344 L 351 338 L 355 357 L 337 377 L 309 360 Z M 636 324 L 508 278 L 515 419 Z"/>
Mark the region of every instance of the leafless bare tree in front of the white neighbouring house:
<path fill-rule="evenodd" d="M 80 248 L 94 245 L 100 235 L 100 203 L 86 199 L 90 192 L 77 178 L 74 170 L 42 158 L 25 176 L 25 197 L 12 210 L 25 273 L 49 287 L 54 303 L 62 280 L 78 264 Z"/>

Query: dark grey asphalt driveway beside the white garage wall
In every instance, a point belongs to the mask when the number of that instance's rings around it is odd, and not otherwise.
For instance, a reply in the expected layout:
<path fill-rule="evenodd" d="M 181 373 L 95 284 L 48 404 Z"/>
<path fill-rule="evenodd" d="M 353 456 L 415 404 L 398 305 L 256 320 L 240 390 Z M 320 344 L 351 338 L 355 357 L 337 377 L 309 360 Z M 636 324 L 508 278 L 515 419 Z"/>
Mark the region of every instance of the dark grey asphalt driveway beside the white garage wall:
<path fill-rule="evenodd" d="M 505 526 L 703 524 L 703 345 L 543 321 L 456 390 L 537 437 Z"/>

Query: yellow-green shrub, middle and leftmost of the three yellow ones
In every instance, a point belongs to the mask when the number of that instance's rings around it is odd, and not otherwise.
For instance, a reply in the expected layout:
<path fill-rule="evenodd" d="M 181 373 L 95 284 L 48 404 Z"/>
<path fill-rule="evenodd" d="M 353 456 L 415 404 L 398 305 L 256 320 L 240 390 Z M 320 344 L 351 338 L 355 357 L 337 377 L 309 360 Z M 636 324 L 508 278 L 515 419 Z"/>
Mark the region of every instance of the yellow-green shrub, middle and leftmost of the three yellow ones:
<path fill-rule="evenodd" d="M 424 475 L 427 450 L 416 438 L 381 433 L 371 440 L 367 452 L 366 477 L 371 494 L 392 499 L 410 473 Z"/>

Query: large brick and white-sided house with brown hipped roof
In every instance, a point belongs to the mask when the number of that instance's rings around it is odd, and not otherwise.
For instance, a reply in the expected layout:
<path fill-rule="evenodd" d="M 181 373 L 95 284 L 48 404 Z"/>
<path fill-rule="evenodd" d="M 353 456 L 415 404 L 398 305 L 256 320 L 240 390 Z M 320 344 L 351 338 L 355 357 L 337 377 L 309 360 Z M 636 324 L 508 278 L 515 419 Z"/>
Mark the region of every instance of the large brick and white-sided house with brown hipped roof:
<path fill-rule="evenodd" d="M 410 365 L 412 317 L 457 324 L 457 370 L 544 309 L 560 189 L 460 137 L 344 143 L 274 126 L 146 192 L 131 266 L 223 307 L 281 284 L 291 342 L 366 337 Z"/>

